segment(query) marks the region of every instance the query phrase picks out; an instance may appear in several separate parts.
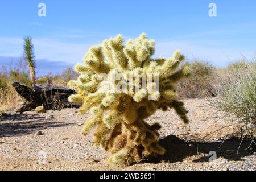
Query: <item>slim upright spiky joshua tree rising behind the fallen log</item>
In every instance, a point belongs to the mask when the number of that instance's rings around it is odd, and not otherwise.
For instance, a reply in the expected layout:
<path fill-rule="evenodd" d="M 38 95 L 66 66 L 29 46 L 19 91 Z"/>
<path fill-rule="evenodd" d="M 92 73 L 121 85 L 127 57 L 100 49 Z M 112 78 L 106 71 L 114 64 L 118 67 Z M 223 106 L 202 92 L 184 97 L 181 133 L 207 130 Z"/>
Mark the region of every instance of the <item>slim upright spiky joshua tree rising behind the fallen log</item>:
<path fill-rule="evenodd" d="M 28 67 L 30 68 L 30 77 L 31 77 L 32 84 L 35 85 L 36 61 L 35 61 L 34 45 L 32 44 L 32 38 L 30 37 L 24 38 L 23 56 L 28 63 Z"/>

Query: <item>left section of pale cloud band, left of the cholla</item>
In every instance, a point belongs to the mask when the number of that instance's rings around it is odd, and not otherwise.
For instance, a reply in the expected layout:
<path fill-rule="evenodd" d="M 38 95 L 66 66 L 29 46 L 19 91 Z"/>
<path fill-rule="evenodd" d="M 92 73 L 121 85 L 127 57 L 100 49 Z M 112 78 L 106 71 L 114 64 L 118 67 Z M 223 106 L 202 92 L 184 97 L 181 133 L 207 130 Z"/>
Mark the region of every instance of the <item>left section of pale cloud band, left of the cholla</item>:
<path fill-rule="evenodd" d="M 38 38 L 33 39 L 36 59 L 64 61 L 77 63 L 82 61 L 91 43 L 70 43 L 59 39 Z M 18 57 L 22 55 L 22 38 L 0 37 L 0 56 Z"/>

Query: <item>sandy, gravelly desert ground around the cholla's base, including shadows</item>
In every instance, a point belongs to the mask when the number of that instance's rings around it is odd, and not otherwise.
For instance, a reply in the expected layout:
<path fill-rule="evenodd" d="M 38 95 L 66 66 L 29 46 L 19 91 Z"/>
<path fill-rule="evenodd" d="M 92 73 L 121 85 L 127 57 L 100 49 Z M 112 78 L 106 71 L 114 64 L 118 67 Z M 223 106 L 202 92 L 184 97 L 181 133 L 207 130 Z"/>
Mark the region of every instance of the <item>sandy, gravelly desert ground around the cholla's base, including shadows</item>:
<path fill-rule="evenodd" d="M 93 146 L 92 133 L 81 134 L 89 115 L 81 116 L 76 109 L 9 112 L 0 120 L 0 170 L 256 169 L 255 144 L 246 139 L 241 143 L 241 126 L 236 121 L 224 118 L 203 99 L 184 102 L 189 125 L 183 125 L 173 110 L 158 111 L 148 119 L 161 123 L 160 144 L 166 154 L 129 167 L 109 164 L 108 154 Z"/>

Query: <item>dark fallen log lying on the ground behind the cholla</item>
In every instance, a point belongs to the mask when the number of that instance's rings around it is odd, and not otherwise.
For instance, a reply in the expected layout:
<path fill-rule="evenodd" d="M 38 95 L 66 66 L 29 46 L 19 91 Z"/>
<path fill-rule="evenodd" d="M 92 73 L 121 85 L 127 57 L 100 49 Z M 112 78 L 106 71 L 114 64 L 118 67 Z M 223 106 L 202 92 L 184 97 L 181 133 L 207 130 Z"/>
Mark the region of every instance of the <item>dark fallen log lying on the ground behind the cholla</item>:
<path fill-rule="evenodd" d="M 81 105 L 68 101 L 68 96 L 75 91 L 68 87 L 54 85 L 35 85 L 32 89 L 19 82 L 13 82 L 16 92 L 26 103 L 18 110 L 20 113 L 44 106 L 44 109 L 79 108 Z"/>

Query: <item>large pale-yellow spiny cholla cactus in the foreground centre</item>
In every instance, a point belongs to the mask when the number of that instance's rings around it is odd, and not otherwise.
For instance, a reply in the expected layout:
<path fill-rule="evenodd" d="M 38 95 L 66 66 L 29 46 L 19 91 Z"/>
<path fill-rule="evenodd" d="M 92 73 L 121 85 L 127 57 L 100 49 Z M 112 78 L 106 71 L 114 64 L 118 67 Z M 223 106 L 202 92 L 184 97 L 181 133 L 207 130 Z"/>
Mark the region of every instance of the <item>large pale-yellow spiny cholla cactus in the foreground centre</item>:
<path fill-rule="evenodd" d="M 82 133 L 97 127 L 94 144 L 113 154 L 112 163 L 131 164 L 142 156 L 164 154 L 158 143 L 159 123 L 144 121 L 156 110 L 173 108 L 188 122 L 187 110 L 175 92 L 175 82 L 189 75 L 188 65 L 179 68 L 184 56 L 175 51 L 170 59 L 152 59 L 154 51 L 154 40 L 145 34 L 126 45 L 117 35 L 102 46 L 90 47 L 84 65 L 75 65 L 78 80 L 68 83 L 77 91 L 69 101 L 83 103 L 81 114 L 92 113 Z M 146 86 L 140 75 L 146 77 Z"/>

